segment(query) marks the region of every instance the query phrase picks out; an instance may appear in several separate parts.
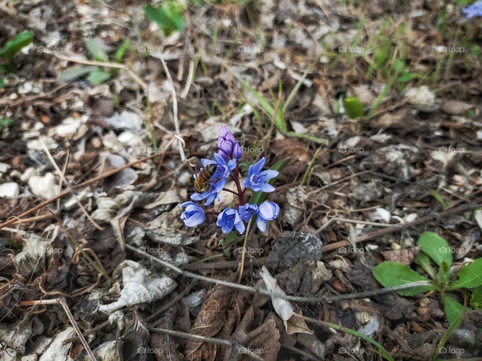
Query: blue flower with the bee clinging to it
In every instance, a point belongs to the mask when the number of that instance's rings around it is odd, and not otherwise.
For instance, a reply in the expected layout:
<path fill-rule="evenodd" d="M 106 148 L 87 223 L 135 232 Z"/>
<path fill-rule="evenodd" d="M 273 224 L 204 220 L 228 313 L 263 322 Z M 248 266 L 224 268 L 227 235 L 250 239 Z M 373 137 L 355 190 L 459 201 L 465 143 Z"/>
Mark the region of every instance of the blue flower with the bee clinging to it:
<path fill-rule="evenodd" d="M 216 170 L 211 177 L 212 182 L 209 185 L 209 190 L 204 193 L 193 193 L 191 195 L 192 200 L 206 200 L 204 205 L 210 205 L 214 198 L 216 198 L 217 194 L 224 188 L 227 182 L 227 178 L 231 174 L 231 171 L 236 168 L 236 160 L 230 159 L 229 161 L 225 161 L 224 158 L 214 153 L 215 161 L 210 159 L 201 159 L 201 164 L 203 167 L 207 167 L 209 164 L 216 164 Z"/>

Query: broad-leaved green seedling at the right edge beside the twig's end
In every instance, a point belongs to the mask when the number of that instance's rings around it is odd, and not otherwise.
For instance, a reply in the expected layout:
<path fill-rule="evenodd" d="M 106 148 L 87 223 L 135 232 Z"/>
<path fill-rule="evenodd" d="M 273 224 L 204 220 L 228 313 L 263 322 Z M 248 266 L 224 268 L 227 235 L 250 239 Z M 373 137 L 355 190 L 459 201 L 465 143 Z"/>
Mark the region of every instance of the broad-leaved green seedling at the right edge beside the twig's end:
<path fill-rule="evenodd" d="M 421 247 L 414 262 L 432 279 L 431 286 L 418 286 L 397 291 L 400 295 L 413 296 L 435 290 L 442 298 L 445 316 L 452 325 L 463 310 L 463 305 L 452 298 L 451 291 L 471 290 L 482 285 L 482 258 L 474 260 L 457 273 L 452 273 L 452 250 L 447 241 L 433 232 L 423 232 L 417 240 Z M 435 266 L 433 265 L 435 264 Z M 373 275 L 384 287 L 403 285 L 414 281 L 429 281 L 419 272 L 396 262 L 385 261 L 373 268 Z"/>

